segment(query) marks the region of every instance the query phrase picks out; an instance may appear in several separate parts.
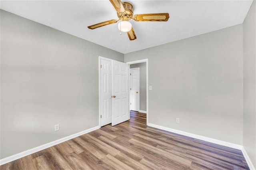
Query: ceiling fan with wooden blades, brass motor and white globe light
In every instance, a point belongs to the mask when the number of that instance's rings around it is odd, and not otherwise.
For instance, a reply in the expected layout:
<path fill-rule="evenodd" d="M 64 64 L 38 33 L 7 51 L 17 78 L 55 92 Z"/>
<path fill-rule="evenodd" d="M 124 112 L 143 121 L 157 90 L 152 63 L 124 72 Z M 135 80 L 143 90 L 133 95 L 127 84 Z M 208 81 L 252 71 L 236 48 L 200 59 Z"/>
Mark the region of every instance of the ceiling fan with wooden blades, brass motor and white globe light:
<path fill-rule="evenodd" d="M 89 29 L 95 29 L 109 24 L 118 23 L 118 29 L 122 32 L 127 32 L 127 35 L 130 40 L 135 40 L 136 35 L 132 28 L 132 24 L 128 20 L 134 21 L 168 21 L 168 13 L 154 13 L 154 14 L 137 14 L 133 15 L 133 6 L 129 2 L 121 2 L 121 0 L 109 0 L 114 6 L 117 12 L 119 20 L 108 20 L 88 26 Z"/>

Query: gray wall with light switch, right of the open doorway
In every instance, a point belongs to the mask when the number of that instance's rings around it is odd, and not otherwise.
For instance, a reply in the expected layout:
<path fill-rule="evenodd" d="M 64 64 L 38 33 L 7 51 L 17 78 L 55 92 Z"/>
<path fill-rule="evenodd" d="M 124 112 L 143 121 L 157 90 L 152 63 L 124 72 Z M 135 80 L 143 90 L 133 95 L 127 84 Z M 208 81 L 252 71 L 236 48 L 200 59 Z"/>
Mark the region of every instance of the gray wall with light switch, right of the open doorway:
<path fill-rule="evenodd" d="M 242 57 L 240 24 L 128 53 L 124 61 L 148 58 L 149 123 L 242 145 Z"/>

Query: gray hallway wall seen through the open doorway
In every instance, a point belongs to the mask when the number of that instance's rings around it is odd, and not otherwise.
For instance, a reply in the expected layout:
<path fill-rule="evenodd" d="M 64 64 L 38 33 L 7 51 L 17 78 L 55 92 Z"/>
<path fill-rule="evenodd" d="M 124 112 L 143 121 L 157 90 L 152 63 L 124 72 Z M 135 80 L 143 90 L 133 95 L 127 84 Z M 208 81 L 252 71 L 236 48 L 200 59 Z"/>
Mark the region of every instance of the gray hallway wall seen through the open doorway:
<path fill-rule="evenodd" d="M 146 63 L 131 64 L 130 68 L 140 68 L 140 110 L 147 111 Z"/>

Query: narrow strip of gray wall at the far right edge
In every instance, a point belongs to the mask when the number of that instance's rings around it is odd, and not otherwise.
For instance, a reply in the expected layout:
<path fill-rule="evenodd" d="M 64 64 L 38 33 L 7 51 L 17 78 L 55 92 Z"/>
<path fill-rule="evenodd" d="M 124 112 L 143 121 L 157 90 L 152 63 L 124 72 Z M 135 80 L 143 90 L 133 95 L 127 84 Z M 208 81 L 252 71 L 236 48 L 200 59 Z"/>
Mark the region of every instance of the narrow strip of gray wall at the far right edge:
<path fill-rule="evenodd" d="M 256 2 L 244 20 L 244 148 L 256 167 Z"/>

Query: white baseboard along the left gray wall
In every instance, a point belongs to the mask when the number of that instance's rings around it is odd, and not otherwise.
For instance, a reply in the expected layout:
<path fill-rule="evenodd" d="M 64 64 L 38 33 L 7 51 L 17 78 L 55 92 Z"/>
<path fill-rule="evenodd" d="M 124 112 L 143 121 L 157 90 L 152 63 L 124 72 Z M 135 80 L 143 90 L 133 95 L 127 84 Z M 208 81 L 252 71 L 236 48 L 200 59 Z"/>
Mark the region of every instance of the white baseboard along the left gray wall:
<path fill-rule="evenodd" d="M 38 151 L 40 151 L 40 150 L 44 150 L 44 149 L 46 149 L 46 148 L 50 148 L 51 146 L 54 146 L 54 145 L 56 145 L 56 144 L 60 144 L 60 143 L 62 143 L 62 142 L 65 142 L 65 141 L 67 141 L 67 140 L 70 140 L 70 139 L 72 139 L 72 138 L 76 138 L 76 137 L 81 136 L 81 135 L 83 135 L 83 134 L 92 132 L 92 131 L 97 130 L 97 129 L 99 129 L 99 128 L 100 128 L 100 126 L 96 126 L 96 127 L 93 127 L 93 128 L 89 128 L 89 129 L 84 130 L 84 131 L 82 131 L 82 132 L 78 132 L 78 133 L 76 133 L 76 134 L 72 134 L 72 135 L 70 135 L 70 136 L 66 136 L 66 137 L 64 137 L 64 138 L 60 138 L 60 139 L 58 139 L 58 140 L 55 140 L 55 141 L 52 141 L 52 142 L 43 144 L 43 145 L 41 145 L 41 146 L 37 146 L 37 147 L 35 147 L 35 148 L 29 149 L 29 150 L 25 150 L 25 151 L 20 152 L 20 153 L 18 153 L 18 154 L 14 154 L 14 155 L 12 155 L 12 156 L 8 156 L 8 157 L 6 157 L 6 158 L 0 159 L 0 166 L 3 165 L 3 164 L 7 164 L 7 163 L 9 163 L 9 162 L 12 162 L 12 161 L 14 161 L 14 160 L 20 159 L 20 158 L 22 158 L 22 157 L 24 157 L 24 156 L 28 156 L 28 155 L 33 154 L 33 153 L 35 153 L 35 152 L 38 152 Z"/>

